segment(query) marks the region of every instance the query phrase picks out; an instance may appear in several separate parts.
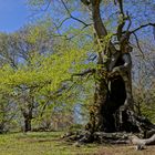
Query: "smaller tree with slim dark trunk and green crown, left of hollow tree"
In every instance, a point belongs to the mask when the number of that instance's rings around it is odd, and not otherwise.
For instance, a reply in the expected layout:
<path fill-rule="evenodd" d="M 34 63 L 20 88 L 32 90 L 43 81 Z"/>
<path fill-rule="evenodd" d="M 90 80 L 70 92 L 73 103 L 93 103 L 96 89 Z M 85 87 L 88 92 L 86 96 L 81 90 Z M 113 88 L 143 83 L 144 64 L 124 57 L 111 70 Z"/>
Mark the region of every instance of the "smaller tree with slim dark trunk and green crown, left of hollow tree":
<path fill-rule="evenodd" d="M 1 54 L 7 61 L 0 70 L 1 91 L 9 90 L 12 101 L 21 111 L 24 132 L 31 131 L 32 120 L 40 117 L 46 107 L 51 108 L 51 113 L 54 113 L 52 110 L 55 106 L 63 113 L 65 108 L 69 114 L 69 106 L 70 110 L 73 107 L 70 87 L 73 87 L 74 82 L 71 72 L 89 65 L 80 64 L 86 56 L 85 50 L 79 52 L 78 46 L 72 49 L 74 43 L 53 40 L 51 29 L 46 23 L 29 25 L 8 34 L 9 41 L 2 39 L 6 50 Z M 11 55 L 7 56 L 9 52 Z"/>

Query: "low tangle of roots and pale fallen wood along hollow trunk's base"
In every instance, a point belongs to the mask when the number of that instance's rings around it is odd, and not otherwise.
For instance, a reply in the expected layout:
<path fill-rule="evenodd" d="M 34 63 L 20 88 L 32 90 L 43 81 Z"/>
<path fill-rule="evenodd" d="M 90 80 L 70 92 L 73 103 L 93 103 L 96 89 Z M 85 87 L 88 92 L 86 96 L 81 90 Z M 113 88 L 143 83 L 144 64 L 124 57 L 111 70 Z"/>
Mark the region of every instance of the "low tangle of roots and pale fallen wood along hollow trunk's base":
<path fill-rule="evenodd" d="M 154 131 L 155 133 L 155 131 Z M 75 142 L 74 146 L 80 146 L 87 143 L 100 143 L 100 144 L 132 144 L 136 146 L 136 149 L 144 149 L 146 145 L 155 145 L 155 134 L 153 134 L 148 138 L 140 138 L 142 134 L 133 134 L 133 133 L 104 133 L 104 132 L 95 132 L 93 134 L 87 132 L 70 132 L 66 133 L 63 138 L 65 141 Z"/>

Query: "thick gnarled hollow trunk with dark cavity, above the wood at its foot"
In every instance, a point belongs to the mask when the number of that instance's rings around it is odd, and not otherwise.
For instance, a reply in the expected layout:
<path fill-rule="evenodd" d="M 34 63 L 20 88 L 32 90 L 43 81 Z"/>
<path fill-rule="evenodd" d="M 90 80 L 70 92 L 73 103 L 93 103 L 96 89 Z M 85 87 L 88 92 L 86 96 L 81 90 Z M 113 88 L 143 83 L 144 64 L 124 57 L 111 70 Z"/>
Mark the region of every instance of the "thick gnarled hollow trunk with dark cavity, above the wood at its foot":
<path fill-rule="evenodd" d="M 90 2 L 97 44 L 102 45 L 107 31 L 100 14 L 101 0 Z M 130 37 L 127 34 L 126 37 L 127 39 L 120 41 L 120 51 L 111 41 L 108 46 L 99 51 L 101 68 L 95 72 L 94 103 L 90 107 L 90 122 L 86 125 L 86 130 L 91 133 L 120 131 L 138 133 L 153 127 L 149 121 L 134 112 L 131 46 Z M 104 62 L 102 55 L 108 56 L 110 62 Z"/>

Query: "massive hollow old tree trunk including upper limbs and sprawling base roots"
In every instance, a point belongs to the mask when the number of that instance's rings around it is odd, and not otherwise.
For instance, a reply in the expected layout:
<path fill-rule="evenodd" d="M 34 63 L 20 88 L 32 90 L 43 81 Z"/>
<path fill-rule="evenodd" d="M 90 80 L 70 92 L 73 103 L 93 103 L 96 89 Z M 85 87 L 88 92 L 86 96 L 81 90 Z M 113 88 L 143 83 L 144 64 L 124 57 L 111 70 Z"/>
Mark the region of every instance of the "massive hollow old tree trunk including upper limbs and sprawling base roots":
<path fill-rule="evenodd" d="M 99 68 L 93 70 L 95 92 L 93 104 L 89 110 L 90 121 L 85 126 L 86 131 L 69 133 L 64 137 L 78 141 L 75 146 L 93 141 L 111 144 L 128 144 L 131 142 L 137 145 L 142 142 L 148 145 L 154 144 L 155 136 L 153 134 L 155 134 L 155 125 L 147 118 L 137 115 L 134 111 L 131 76 L 132 58 L 130 54 L 132 46 L 130 45 L 128 29 L 123 31 L 126 18 L 123 19 L 123 23 L 117 28 L 120 50 L 115 49 L 111 40 L 107 45 L 103 45 L 103 40 L 108 33 L 100 14 L 101 0 L 81 1 L 91 8 L 95 43 L 100 46 L 97 51 Z M 120 0 L 117 2 L 120 2 L 121 12 L 123 12 L 123 1 Z M 125 16 L 123 14 L 123 17 Z M 106 55 L 108 61 L 105 62 L 103 55 Z M 83 75 L 84 73 L 76 75 Z M 133 133 L 136 133 L 141 140 L 133 137 L 130 140 Z"/>

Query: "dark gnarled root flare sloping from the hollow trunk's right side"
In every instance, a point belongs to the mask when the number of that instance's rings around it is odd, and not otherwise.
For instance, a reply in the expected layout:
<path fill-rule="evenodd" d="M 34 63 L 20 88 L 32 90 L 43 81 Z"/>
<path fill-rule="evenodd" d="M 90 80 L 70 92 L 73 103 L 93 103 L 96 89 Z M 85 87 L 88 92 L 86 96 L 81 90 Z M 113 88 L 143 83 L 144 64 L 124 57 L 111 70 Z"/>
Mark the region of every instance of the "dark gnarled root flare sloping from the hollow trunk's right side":
<path fill-rule="evenodd" d="M 151 137 L 155 133 L 155 125 L 146 117 L 137 115 L 132 110 L 118 110 L 115 114 L 116 132 L 141 133 L 142 137 Z"/>

